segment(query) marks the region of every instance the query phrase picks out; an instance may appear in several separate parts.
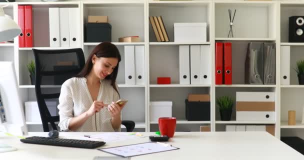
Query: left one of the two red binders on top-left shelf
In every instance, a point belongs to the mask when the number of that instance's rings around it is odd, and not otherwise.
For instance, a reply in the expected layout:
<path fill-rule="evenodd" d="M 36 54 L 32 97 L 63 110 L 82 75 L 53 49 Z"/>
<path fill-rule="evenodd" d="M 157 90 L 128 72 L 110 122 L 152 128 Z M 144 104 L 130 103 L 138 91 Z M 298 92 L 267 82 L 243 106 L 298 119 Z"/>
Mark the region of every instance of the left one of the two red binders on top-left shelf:
<path fill-rule="evenodd" d="M 21 28 L 19 34 L 19 47 L 25 47 L 25 36 L 24 36 L 24 5 L 18 5 L 18 25 Z"/>

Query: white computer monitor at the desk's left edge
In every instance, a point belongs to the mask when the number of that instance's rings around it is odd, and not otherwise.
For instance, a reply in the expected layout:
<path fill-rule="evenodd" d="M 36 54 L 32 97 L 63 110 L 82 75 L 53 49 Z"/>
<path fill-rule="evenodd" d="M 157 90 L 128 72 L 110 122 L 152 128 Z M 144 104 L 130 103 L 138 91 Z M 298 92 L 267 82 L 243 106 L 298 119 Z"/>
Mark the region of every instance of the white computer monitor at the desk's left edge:
<path fill-rule="evenodd" d="M 27 135 L 13 63 L 0 61 L 0 132 Z"/>

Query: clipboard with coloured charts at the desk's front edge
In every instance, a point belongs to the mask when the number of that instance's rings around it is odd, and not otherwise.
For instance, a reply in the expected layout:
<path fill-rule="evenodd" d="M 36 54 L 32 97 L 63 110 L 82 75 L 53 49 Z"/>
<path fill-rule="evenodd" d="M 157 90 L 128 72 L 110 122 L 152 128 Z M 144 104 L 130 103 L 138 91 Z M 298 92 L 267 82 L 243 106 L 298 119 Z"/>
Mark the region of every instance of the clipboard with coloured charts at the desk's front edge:
<path fill-rule="evenodd" d="M 115 147 L 108 148 L 100 148 L 98 150 L 104 151 L 110 154 L 122 156 L 122 157 L 130 157 L 144 154 L 151 154 L 163 151 L 170 151 L 179 149 L 177 147 L 171 145 L 162 145 L 156 142 L 144 142 L 130 145 L 121 145 Z"/>

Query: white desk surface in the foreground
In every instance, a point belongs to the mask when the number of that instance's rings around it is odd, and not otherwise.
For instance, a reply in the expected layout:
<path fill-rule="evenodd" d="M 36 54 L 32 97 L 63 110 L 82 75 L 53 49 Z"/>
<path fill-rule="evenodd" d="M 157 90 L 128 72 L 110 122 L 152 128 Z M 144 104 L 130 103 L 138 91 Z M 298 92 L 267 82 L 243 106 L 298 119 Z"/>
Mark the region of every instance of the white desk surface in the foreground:
<path fill-rule="evenodd" d="M 88 132 L 60 132 L 62 138 L 80 138 Z M 153 135 L 152 132 L 142 132 Z M 46 136 L 46 132 L 30 132 L 28 136 Z M 102 147 L 147 142 L 148 137 Z M 26 144 L 16 137 L 0 135 L 0 142 L 18 148 L 0 153 L 0 159 L 93 159 L 94 156 L 112 156 L 97 149 L 83 149 L 50 145 Z M 282 159 L 303 160 L 304 156 L 267 132 L 175 132 L 169 142 L 180 149 L 134 156 L 131 159 Z"/>

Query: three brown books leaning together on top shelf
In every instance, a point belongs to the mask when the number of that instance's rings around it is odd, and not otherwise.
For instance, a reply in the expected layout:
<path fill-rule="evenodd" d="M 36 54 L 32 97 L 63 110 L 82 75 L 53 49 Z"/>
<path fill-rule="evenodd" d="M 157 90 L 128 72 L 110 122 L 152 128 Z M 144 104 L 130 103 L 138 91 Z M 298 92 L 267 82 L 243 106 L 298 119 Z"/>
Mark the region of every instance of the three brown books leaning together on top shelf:
<path fill-rule="evenodd" d="M 149 16 L 157 41 L 170 41 L 161 16 Z"/>

